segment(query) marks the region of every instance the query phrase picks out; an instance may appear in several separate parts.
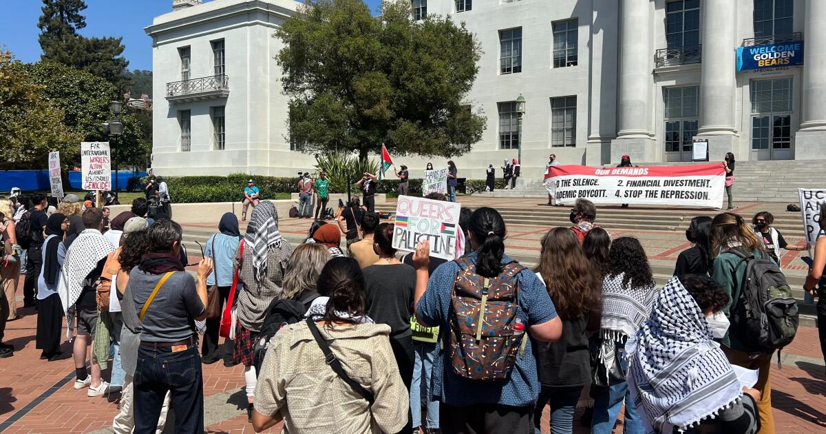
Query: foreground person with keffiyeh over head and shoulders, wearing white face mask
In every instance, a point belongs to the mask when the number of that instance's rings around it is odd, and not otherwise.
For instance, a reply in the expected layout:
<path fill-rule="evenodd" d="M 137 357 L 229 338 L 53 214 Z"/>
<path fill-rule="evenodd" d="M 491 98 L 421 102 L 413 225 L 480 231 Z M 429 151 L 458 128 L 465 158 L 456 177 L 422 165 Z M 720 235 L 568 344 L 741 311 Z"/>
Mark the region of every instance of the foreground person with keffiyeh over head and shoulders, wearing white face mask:
<path fill-rule="evenodd" d="M 743 387 L 714 338 L 729 322 L 729 296 L 706 275 L 672 277 L 625 345 L 628 384 L 646 432 L 759 429 L 757 389 Z"/>

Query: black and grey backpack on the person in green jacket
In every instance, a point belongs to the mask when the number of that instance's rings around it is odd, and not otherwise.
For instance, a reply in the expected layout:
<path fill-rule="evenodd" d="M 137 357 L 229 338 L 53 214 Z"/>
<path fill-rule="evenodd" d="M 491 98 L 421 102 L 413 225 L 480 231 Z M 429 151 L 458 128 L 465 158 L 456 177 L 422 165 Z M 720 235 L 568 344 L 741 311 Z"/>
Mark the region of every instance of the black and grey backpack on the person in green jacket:
<path fill-rule="evenodd" d="M 774 352 L 789 345 L 795 339 L 800 317 L 786 276 L 771 259 L 738 249 L 728 252 L 740 258 L 733 273 L 741 264 L 746 265 L 740 298 L 733 300 L 732 324 L 737 324 L 743 337 L 759 351 Z"/>

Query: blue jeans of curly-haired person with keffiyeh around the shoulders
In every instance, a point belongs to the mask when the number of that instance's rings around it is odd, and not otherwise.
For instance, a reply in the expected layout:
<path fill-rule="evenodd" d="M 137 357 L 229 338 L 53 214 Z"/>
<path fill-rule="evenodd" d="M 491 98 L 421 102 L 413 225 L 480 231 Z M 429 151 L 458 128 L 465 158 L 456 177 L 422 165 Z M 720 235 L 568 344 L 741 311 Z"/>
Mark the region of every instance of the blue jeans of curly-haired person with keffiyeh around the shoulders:
<path fill-rule="evenodd" d="M 625 346 L 617 342 L 616 351 L 619 353 L 619 365 L 623 370 L 628 370 L 628 361 L 625 360 Z M 628 383 L 622 382 L 610 387 L 595 388 L 594 396 L 594 417 L 591 420 L 591 434 L 611 434 L 614 431 L 614 424 L 619 416 L 619 408 L 625 404 L 625 417 L 623 423 L 624 434 L 644 434 L 643 421 L 637 415 L 637 408 L 634 407 L 634 399 L 628 389 Z"/>

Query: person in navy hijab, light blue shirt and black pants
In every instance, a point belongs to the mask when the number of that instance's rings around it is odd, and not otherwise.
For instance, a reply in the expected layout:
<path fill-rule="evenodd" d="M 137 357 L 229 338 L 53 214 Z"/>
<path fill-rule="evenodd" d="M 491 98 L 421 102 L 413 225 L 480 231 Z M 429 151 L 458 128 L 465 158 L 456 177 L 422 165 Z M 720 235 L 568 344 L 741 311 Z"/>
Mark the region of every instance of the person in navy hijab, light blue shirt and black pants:
<path fill-rule="evenodd" d="M 232 277 L 235 274 L 233 260 L 240 242 L 241 233 L 238 229 L 238 217 L 235 217 L 232 212 L 225 212 L 221 217 L 221 222 L 218 223 L 218 233 L 209 237 L 204 250 L 204 255 L 207 258 L 212 258 L 212 274 L 207 277 L 207 288 L 218 285 L 218 291 L 221 293 L 221 312 L 224 312 L 224 303 L 230 297 Z M 232 366 L 233 342 L 227 340 L 220 352 L 218 349 L 218 331 L 220 328 L 221 318 L 207 318 L 207 332 L 204 334 L 201 345 L 202 361 L 207 365 L 211 365 L 218 359 L 223 358 L 225 366 Z"/>

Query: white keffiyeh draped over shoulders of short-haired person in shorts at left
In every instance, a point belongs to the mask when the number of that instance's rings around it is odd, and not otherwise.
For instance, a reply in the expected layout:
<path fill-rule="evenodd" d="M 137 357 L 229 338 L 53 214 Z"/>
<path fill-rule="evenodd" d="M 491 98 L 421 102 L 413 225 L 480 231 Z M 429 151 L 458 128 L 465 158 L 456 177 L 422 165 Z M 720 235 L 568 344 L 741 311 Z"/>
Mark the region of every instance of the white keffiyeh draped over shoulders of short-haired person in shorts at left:
<path fill-rule="evenodd" d="M 60 270 L 58 293 L 64 312 L 68 312 L 69 307 L 78 301 L 86 276 L 97 267 L 97 262 L 113 251 L 112 243 L 97 229 L 80 232 L 66 251 L 63 269 Z"/>

